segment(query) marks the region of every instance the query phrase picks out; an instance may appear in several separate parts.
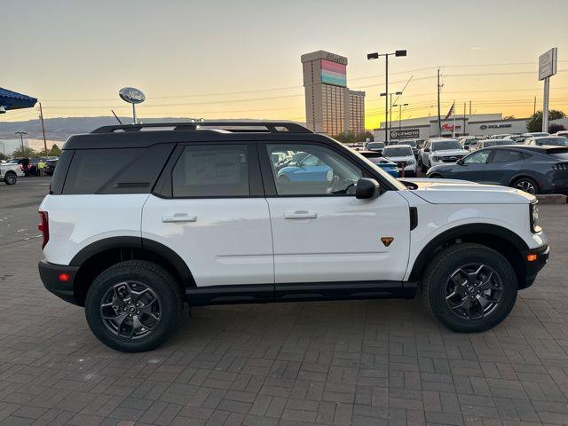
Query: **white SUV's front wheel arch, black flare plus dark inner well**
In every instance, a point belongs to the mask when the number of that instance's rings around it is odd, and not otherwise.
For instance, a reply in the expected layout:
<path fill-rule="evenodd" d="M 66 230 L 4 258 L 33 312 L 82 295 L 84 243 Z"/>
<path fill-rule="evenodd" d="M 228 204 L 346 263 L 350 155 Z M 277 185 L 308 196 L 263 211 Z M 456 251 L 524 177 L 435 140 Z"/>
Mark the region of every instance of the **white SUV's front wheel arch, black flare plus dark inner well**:
<path fill-rule="evenodd" d="M 492 224 L 460 225 L 440 233 L 416 256 L 408 280 L 422 280 L 428 262 L 439 250 L 461 242 L 476 242 L 501 253 L 513 266 L 518 287 L 525 288 L 525 262 L 521 253 L 529 249 L 528 245 L 517 233 Z"/>

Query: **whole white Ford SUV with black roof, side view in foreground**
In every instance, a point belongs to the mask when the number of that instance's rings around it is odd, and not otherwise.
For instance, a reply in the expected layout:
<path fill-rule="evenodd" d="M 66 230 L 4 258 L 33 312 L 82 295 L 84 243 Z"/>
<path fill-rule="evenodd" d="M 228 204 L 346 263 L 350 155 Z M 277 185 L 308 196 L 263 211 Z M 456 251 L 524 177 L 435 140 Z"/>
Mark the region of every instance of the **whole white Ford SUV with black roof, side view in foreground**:
<path fill-rule="evenodd" d="M 92 332 L 121 351 L 164 342 L 184 302 L 412 298 L 419 288 L 446 327 L 481 331 L 507 317 L 548 259 L 532 195 L 402 185 L 286 122 L 73 136 L 40 216 L 45 287 L 84 306 Z"/>

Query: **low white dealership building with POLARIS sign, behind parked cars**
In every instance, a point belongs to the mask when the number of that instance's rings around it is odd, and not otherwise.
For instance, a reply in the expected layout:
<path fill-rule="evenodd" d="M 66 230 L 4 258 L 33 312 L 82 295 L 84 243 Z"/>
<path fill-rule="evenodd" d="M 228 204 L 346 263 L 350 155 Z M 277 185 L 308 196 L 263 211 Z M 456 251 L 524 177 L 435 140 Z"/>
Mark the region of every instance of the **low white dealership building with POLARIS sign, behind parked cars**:
<path fill-rule="evenodd" d="M 502 114 L 455 115 L 441 120 L 441 136 L 491 136 L 502 133 L 525 133 L 528 118 L 503 119 Z M 438 117 L 420 117 L 392 122 L 390 139 L 425 139 L 438 136 Z M 384 140 L 384 122 L 374 129 L 375 140 Z"/>

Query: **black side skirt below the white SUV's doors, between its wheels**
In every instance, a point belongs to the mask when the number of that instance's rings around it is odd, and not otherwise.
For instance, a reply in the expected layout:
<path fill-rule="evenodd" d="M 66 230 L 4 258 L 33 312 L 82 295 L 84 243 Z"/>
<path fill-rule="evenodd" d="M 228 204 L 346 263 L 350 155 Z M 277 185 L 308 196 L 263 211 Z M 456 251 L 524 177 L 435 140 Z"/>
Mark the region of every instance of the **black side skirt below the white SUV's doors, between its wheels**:
<path fill-rule="evenodd" d="M 185 288 L 191 306 L 209 304 L 267 304 L 324 300 L 412 299 L 418 283 L 401 281 L 345 281 L 254 284 Z"/>

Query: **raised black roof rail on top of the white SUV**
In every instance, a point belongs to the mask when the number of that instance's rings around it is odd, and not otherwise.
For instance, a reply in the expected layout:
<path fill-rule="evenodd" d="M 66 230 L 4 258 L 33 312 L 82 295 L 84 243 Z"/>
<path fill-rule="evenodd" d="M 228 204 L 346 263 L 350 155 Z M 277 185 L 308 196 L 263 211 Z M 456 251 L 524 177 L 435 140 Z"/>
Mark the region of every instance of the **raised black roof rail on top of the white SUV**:
<path fill-rule="evenodd" d="M 174 130 L 196 130 L 197 128 L 211 128 L 217 130 L 229 130 L 234 132 L 250 132 L 256 131 L 251 128 L 264 127 L 266 129 L 264 131 L 270 133 L 312 133 L 312 130 L 306 129 L 304 126 L 297 124 L 296 122 L 147 122 L 140 124 L 116 124 L 111 126 L 103 126 L 99 127 L 99 129 L 92 130 L 91 133 L 113 133 L 117 130 L 130 132 L 160 127 L 173 127 Z"/>

